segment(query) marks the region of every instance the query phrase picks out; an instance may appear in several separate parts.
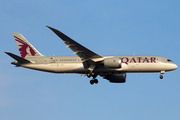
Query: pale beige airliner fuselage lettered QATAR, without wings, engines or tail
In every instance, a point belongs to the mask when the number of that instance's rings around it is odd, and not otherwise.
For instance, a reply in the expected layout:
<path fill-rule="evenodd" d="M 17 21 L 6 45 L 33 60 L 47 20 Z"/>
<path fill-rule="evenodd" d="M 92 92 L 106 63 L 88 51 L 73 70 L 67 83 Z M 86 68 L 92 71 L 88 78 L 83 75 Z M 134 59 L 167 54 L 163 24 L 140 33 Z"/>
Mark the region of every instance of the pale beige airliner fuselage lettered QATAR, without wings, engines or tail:
<path fill-rule="evenodd" d="M 177 68 L 177 65 L 165 57 L 154 55 L 120 55 L 103 56 L 104 58 L 121 58 L 121 68 L 108 68 L 99 66 L 94 72 L 122 73 L 122 72 L 160 72 L 170 71 Z M 86 74 L 83 63 L 78 56 L 50 56 L 27 58 L 32 63 L 23 64 L 23 67 L 54 73 L 82 73 Z"/>

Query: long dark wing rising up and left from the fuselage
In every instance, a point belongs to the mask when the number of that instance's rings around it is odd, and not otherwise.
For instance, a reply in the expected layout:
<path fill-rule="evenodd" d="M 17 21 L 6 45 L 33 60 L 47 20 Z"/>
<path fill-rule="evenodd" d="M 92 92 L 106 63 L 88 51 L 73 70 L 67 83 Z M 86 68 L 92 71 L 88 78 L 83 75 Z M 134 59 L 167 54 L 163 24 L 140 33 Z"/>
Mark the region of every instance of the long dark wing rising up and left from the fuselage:
<path fill-rule="evenodd" d="M 98 62 L 103 60 L 102 56 L 82 46 L 61 31 L 47 25 L 45 26 L 51 29 L 57 36 L 59 36 L 67 45 L 67 47 L 69 47 L 74 52 L 74 54 L 77 54 L 83 61 L 91 59 L 94 62 Z"/>

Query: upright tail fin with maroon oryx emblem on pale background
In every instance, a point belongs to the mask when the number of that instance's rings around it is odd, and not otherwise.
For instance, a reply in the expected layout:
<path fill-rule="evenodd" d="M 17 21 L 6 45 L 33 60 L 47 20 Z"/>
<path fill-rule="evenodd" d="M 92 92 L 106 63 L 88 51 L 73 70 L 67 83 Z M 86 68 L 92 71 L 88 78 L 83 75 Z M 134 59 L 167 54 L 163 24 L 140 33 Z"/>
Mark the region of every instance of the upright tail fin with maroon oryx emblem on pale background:
<path fill-rule="evenodd" d="M 13 35 L 22 58 L 43 56 L 20 33 L 13 33 Z"/>

